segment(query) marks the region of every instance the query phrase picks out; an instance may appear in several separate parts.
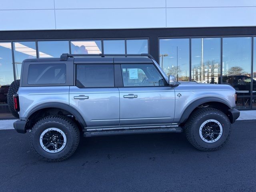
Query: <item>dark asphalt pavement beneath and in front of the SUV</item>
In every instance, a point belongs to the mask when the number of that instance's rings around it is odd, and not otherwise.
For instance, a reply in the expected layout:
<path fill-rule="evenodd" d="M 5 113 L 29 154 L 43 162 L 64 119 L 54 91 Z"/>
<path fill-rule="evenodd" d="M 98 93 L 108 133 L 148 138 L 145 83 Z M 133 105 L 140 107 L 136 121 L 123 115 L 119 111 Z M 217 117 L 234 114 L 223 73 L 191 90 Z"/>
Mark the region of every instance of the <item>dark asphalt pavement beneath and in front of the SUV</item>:
<path fill-rule="evenodd" d="M 256 120 L 232 125 L 214 152 L 191 146 L 184 134 L 82 138 L 68 160 L 39 160 L 28 134 L 0 130 L 0 191 L 255 192 Z"/>

